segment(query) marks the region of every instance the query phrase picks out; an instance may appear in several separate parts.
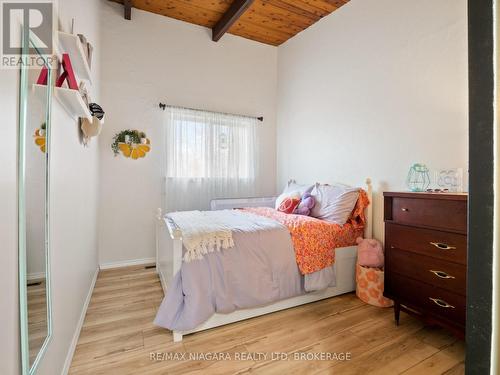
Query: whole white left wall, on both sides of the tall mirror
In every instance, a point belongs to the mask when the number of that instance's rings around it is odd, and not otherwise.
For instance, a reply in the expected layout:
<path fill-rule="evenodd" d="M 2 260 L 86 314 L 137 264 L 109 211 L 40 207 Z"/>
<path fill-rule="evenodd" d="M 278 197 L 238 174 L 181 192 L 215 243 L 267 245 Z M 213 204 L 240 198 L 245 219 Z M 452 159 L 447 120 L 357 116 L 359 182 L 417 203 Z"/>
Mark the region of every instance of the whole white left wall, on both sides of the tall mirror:
<path fill-rule="evenodd" d="M 96 47 L 94 81 L 99 94 L 100 0 L 59 2 L 61 26 L 86 34 Z M 18 374 L 19 311 L 17 285 L 17 131 L 19 72 L 0 70 L 2 157 L 0 168 L 1 252 L 3 270 L 0 309 L 0 373 Z M 97 269 L 97 143 L 79 143 L 77 123 L 54 101 L 51 155 L 51 270 L 54 336 L 42 360 L 40 375 L 60 374 L 80 313 Z"/>

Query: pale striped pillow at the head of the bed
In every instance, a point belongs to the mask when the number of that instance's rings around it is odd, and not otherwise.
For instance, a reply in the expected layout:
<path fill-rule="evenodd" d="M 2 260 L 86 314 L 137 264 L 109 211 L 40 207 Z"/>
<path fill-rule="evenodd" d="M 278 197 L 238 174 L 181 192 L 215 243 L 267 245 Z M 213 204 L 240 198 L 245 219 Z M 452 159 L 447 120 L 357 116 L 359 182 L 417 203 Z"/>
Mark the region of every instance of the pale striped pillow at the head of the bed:
<path fill-rule="evenodd" d="M 359 188 L 316 184 L 311 195 L 316 200 L 311 216 L 344 225 L 356 205 Z"/>

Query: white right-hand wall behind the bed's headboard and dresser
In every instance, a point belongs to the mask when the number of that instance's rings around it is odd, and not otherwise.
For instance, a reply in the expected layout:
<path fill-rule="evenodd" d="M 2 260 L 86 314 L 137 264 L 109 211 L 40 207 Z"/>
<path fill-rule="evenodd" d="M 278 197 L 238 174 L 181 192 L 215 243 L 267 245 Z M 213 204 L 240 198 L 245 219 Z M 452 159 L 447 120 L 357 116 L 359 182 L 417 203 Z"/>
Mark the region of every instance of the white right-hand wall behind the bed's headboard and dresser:
<path fill-rule="evenodd" d="M 467 171 L 465 0 L 352 0 L 279 47 L 278 182 L 405 190 L 410 165 Z"/>

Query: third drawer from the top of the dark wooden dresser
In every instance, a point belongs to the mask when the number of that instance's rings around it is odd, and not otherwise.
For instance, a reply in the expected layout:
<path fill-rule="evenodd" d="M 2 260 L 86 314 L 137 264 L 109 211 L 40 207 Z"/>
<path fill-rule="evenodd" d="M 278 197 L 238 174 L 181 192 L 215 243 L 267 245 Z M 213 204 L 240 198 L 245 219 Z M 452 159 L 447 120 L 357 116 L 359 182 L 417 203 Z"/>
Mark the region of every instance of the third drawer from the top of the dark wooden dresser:
<path fill-rule="evenodd" d="M 467 271 L 461 264 L 390 249 L 386 254 L 387 271 L 465 296 Z"/>

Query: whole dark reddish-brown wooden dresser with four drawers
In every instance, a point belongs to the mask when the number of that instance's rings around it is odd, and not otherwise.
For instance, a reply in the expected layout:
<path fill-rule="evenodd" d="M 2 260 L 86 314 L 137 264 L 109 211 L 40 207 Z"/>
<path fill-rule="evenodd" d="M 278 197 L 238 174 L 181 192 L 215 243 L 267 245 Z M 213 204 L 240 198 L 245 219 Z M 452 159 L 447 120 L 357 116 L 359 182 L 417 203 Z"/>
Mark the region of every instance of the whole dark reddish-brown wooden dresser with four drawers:
<path fill-rule="evenodd" d="M 467 195 L 384 193 L 385 286 L 401 310 L 465 333 Z"/>

